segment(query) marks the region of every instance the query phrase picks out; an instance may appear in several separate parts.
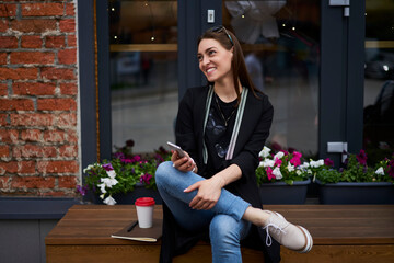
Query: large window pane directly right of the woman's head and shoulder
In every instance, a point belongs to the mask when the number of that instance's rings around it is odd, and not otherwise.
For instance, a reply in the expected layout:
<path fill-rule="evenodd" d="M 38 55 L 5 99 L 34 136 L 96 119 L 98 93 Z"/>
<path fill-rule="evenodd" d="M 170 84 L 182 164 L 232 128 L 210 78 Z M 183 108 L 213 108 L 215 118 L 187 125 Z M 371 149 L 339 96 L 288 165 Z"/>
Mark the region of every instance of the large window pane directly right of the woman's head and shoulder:
<path fill-rule="evenodd" d="M 271 147 L 317 153 L 320 1 L 233 1 L 223 24 L 242 43 L 254 84 L 274 105 Z"/>

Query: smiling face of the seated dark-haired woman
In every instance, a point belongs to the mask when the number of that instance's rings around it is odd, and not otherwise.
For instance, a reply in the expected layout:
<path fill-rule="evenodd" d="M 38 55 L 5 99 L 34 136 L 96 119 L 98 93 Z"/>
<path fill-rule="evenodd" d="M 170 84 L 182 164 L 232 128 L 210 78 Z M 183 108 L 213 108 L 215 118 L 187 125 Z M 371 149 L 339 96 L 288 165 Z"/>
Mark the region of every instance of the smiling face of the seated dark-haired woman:
<path fill-rule="evenodd" d="M 216 39 L 205 38 L 198 45 L 199 68 L 209 82 L 232 78 L 232 49 L 225 49 Z"/>

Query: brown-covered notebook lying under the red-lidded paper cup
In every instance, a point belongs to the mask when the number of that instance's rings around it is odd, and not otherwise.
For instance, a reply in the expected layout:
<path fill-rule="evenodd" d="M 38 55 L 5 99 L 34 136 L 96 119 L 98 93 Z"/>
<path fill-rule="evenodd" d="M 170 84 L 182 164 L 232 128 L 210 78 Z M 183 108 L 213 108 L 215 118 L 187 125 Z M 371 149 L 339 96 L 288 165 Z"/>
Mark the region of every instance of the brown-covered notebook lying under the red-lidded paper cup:
<path fill-rule="evenodd" d="M 138 221 L 134 220 L 121 230 L 114 232 L 111 237 L 143 242 L 157 242 L 162 236 L 162 219 L 153 219 L 151 228 L 139 228 Z"/>

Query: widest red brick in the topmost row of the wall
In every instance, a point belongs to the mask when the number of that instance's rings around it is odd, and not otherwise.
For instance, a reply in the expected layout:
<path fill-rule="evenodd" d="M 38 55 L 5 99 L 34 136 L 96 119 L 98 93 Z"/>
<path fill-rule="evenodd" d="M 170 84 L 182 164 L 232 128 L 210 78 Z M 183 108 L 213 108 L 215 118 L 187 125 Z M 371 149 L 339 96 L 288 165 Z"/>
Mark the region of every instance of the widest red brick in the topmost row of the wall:
<path fill-rule="evenodd" d="M 23 16 L 54 16 L 65 13 L 62 3 L 25 3 L 21 4 Z"/>

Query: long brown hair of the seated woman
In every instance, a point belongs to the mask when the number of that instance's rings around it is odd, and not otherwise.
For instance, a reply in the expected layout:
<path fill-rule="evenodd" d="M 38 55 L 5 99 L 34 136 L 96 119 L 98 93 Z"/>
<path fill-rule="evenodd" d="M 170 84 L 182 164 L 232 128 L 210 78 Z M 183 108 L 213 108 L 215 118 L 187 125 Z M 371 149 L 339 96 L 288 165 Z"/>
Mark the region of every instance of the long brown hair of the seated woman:
<path fill-rule="evenodd" d="M 235 35 L 228 31 L 224 26 L 218 26 L 213 30 L 206 31 L 200 37 L 198 37 L 197 46 L 202 39 L 215 39 L 220 43 L 225 49 L 230 50 L 234 47 L 233 59 L 231 61 L 231 69 L 234 80 L 235 92 L 237 96 L 237 104 L 241 102 L 241 87 L 239 85 L 239 79 L 242 87 L 246 87 L 252 90 L 253 94 L 256 98 L 259 98 L 257 93 L 263 93 L 260 90 L 256 89 L 253 84 L 251 76 L 247 72 L 245 58 L 242 53 L 241 44 L 236 39 Z M 213 84 L 208 81 L 208 84 Z"/>

